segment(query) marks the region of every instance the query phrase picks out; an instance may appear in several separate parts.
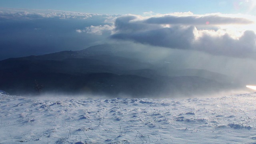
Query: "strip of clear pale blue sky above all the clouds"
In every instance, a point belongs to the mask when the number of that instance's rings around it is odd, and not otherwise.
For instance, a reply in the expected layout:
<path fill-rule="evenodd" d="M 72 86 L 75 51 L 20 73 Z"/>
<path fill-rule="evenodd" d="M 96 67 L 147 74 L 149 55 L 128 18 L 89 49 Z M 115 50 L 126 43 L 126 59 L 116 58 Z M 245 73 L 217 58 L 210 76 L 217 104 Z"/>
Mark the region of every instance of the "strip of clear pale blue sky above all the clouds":
<path fill-rule="evenodd" d="M 0 0 L 0 7 L 51 9 L 98 14 L 193 12 L 256 15 L 254 0 Z M 252 4 L 254 3 L 254 4 Z"/>

